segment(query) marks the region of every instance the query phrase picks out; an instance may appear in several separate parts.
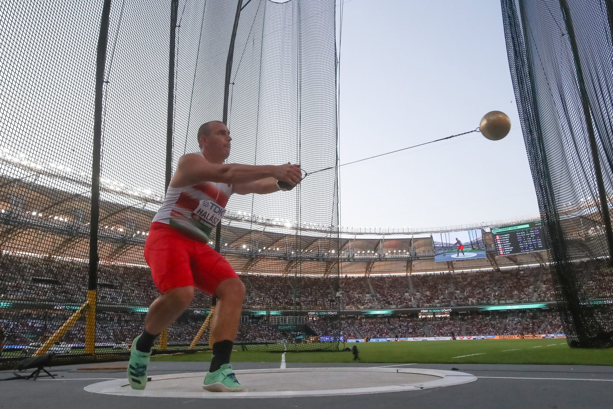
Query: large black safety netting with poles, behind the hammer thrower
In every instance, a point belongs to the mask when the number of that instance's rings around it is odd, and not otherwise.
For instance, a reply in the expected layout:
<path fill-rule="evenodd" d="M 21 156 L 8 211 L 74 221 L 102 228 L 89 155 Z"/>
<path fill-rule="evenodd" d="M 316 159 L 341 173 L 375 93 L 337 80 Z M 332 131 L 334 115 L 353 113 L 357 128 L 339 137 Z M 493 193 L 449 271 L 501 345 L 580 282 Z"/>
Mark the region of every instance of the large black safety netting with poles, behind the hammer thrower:
<path fill-rule="evenodd" d="M 159 296 L 151 220 L 197 131 L 228 163 L 337 165 L 335 3 L 0 4 L 0 367 L 125 358 Z M 230 197 L 211 247 L 246 286 L 235 348 L 336 350 L 338 180 Z M 154 353 L 208 350 L 196 292 Z M 2 335 L 2 334 L 0 334 Z"/>

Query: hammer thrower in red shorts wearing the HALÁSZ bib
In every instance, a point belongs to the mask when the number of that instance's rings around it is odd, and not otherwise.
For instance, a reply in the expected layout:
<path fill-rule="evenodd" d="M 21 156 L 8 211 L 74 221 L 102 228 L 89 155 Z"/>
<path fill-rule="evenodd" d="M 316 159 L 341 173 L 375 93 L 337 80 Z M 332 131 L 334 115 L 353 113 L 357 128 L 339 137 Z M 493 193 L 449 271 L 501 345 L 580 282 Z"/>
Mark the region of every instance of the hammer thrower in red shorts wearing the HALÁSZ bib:
<path fill-rule="evenodd" d="M 246 391 L 229 363 L 245 286 L 230 263 L 207 243 L 211 230 L 226 212 L 230 194 L 276 192 L 281 189 L 277 181 L 293 187 L 300 183 L 302 174 L 300 165 L 224 164 L 231 140 L 223 122 L 200 126 L 201 151 L 181 156 L 164 203 L 151 223 L 145 260 L 162 295 L 149 307 L 143 333 L 132 342 L 128 366 L 132 389 L 145 389 L 155 338 L 189 307 L 197 288 L 217 297 L 210 332 L 213 358 L 202 388 L 211 392 Z"/>

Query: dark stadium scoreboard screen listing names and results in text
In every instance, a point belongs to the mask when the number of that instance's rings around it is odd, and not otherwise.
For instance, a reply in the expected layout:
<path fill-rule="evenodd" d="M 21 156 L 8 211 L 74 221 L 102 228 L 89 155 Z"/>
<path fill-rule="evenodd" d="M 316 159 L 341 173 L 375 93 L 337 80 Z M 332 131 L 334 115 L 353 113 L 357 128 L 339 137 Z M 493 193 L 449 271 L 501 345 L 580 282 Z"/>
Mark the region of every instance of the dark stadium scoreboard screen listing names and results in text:
<path fill-rule="evenodd" d="M 498 256 L 546 250 L 543 224 L 540 220 L 492 229 Z"/>

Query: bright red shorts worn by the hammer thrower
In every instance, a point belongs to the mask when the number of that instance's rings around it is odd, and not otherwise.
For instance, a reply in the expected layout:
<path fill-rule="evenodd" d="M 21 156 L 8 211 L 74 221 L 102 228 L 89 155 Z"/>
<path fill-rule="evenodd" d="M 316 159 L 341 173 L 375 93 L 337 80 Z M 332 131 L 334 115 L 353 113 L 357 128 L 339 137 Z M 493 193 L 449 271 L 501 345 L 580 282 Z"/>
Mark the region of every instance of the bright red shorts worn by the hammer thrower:
<path fill-rule="evenodd" d="M 162 294 L 193 286 L 211 296 L 221 281 L 238 277 L 230 263 L 208 244 L 181 234 L 166 223 L 151 223 L 145 242 L 145 261 Z"/>

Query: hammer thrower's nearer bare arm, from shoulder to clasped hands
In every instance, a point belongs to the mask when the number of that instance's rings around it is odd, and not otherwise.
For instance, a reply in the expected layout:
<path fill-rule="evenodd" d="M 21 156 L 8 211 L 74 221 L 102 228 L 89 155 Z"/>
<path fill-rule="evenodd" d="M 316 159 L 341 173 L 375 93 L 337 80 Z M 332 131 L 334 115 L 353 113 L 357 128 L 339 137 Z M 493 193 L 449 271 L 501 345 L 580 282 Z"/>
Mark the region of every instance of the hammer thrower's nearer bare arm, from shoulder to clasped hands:
<path fill-rule="evenodd" d="M 265 178 L 275 178 L 297 184 L 302 178 L 300 165 L 284 164 L 280 166 L 216 164 L 200 155 L 189 153 L 179 159 L 177 171 L 170 181 L 173 188 L 196 185 L 200 182 L 221 182 L 229 185 L 256 182 Z"/>

